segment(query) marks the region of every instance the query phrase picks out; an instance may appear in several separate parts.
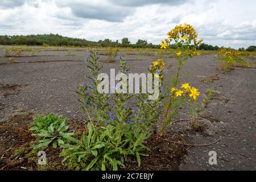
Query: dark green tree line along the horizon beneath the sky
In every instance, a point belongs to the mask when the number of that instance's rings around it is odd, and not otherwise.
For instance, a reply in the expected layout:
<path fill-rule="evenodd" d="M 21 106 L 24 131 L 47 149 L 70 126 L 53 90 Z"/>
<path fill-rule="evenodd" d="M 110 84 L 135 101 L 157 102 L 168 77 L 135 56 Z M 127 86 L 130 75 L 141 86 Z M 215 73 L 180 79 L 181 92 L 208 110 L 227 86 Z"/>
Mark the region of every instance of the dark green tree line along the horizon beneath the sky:
<path fill-rule="evenodd" d="M 147 40 L 139 39 L 135 44 L 132 44 L 128 38 L 123 38 L 121 42 L 118 40 L 113 41 L 110 39 L 99 40 L 98 42 L 89 41 L 79 38 L 68 38 L 66 36 L 61 36 L 58 34 L 43 34 L 43 35 L 14 35 L 0 36 L 1 45 L 26 45 L 26 46 L 42 46 L 47 44 L 49 46 L 101 46 L 101 47 L 131 47 L 131 48 L 159 48 L 159 45 L 154 45 L 148 43 Z M 175 48 L 174 45 L 171 45 Z M 201 43 L 198 47 L 200 50 L 205 51 L 217 51 L 222 47 L 212 46 L 205 43 Z M 256 51 L 255 46 L 250 46 L 249 48 L 240 48 L 241 51 Z"/>

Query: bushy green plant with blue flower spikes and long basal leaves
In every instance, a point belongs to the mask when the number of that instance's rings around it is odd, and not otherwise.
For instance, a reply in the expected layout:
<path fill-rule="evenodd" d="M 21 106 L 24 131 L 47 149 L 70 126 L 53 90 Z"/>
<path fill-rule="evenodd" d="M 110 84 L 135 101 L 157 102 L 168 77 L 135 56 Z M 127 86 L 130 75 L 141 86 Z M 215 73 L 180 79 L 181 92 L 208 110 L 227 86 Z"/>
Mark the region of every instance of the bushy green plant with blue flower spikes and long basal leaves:
<path fill-rule="evenodd" d="M 130 69 L 123 57 L 119 59 L 119 73 L 126 75 L 128 82 Z M 89 120 L 88 132 L 82 134 L 82 141 L 66 137 L 73 144 L 64 145 L 63 162 L 76 169 L 117 170 L 118 166 L 125 167 L 123 161 L 127 155 L 136 155 L 140 166 L 141 155 L 145 155 L 147 150 L 144 141 L 150 137 L 152 125 L 160 117 L 161 97 L 148 100 L 150 93 L 99 93 L 97 88 L 102 80 L 97 78 L 102 66 L 98 60 L 96 52 L 88 52 L 85 61 L 90 74 L 85 76 L 84 83 L 77 85 L 80 107 Z M 158 73 L 155 76 L 160 77 L 163 77 L 163 71 L 163 61 L 160 60 L 155 63 L 154 70 L 148 69 L 148 73 Z M 118 84 L 112 89 L 117 87 Z M 127 88 L 121 86 L 121 89 L 128 90 L 129 84 Z M 142 90 L 142 87 L 138 89 Z"/>

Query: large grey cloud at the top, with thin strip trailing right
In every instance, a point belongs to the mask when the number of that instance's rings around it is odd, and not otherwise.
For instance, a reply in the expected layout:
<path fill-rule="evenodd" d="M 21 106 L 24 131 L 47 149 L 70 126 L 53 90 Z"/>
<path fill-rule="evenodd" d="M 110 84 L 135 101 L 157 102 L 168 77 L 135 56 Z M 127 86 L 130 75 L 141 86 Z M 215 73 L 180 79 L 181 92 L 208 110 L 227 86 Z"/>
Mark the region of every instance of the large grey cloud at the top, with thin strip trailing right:
<path fill-rule="evenodd" d="M 57 6 L 69 7 L 72 14 L 79 18 L 99 19 L 108 22 L 122 22 L 127 16 L 132 15 L 134 7 L 164 3 L 168 5 L 180 5 L 188 0 L 142 0 L 142 1 L 118 1 L 109 0 L 107 3 L 93 4 L 82 1 L 57 1 Z"/>

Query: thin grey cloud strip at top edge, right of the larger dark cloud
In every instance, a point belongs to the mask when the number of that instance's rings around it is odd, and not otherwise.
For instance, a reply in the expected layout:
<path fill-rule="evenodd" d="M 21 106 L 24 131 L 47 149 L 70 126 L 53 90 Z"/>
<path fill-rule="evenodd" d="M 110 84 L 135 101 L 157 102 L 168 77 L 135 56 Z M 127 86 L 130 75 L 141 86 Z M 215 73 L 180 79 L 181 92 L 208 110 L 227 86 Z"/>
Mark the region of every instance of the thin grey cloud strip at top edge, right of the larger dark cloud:
<path fill-rule="evenodd" d="M 152 4 L 181 5 L 185 2 L 188 2 L 188 0 L 110 0 L 110 2 L 121 6 L 138 7 Z"/>

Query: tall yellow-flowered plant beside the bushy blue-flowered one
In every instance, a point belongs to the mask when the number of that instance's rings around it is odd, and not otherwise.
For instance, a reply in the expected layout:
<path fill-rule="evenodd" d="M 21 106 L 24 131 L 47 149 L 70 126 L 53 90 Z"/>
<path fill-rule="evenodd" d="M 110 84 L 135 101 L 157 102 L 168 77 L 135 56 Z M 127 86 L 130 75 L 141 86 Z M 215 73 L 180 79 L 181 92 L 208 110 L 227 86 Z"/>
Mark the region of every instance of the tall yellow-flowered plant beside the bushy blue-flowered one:
<path fill-rule="evenodd" d="M 177 61 L 177 71 L 172 76 L 172 85 L 167 85 L 167 96 L 164 102 L 163 125 L 160 129 L 160 136 L 163 135 L 164 129 L 172 124 L 172 119 L 178 114 L 180 106 L 188 103 L 189 113 L 192 119 L 196 117 L 196 100 L 199 92 L 195 87 L 191 87 L 188 83 L 182 84 L 180 89 L 177 86 L 180 84 L 180 74 L 183 65 L 189 57 L 200 55 L 196 51 L 203 39 L 197 40 L 197 32 L 190 24 L 177 25 L 173 30 L 168 32 L 168 38 L 162 41 L 160 48 L 166 49 L 174 42 L 177 49 L 175 59 Z"/>

